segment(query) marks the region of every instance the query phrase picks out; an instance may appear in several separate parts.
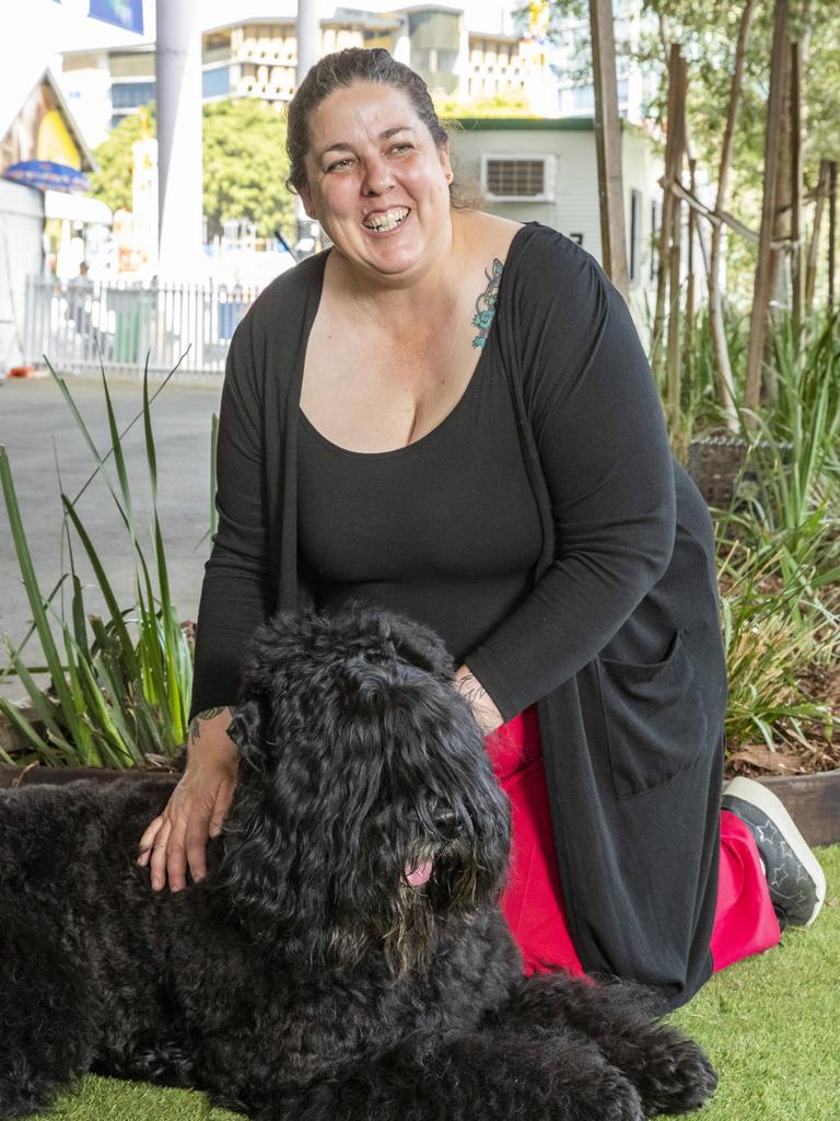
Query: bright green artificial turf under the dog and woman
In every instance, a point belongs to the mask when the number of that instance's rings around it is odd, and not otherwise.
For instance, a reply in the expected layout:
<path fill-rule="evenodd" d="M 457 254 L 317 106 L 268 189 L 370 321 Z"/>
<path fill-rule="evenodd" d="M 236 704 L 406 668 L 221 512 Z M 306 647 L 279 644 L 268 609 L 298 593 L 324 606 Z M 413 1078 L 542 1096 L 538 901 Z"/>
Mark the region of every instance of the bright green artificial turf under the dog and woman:
<path fill-rule="evenodd" d="M 814 926 L 788 930 L 775 949 L 712 978 L 672 1017 L 720 1075 L 703 1121 L 840 1121 L 840 845 L 819 856 L 829 890 Z M 203 1094 L 94 1076 L 43 1117 L 241 1121 Z"/>

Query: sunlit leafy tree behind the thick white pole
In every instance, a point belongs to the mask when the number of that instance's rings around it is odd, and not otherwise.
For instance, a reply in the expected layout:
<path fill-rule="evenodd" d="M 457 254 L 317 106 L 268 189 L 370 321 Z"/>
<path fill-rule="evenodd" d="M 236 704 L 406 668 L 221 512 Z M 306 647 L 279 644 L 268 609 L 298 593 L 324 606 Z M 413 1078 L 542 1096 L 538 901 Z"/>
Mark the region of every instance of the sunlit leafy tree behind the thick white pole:
<path fill-rule="evenodd" d="M 148 110 L 155 132 L 155 109 Z M 131 146 L 143 136 L 139 113 L 127 117 L 94 152 L 100 170 L 92 189 L 112 210 L 131 210 Z M 215 101 L 204 106 L 204 213 L 211 237 L 227 219 L 256 224 L 260 237 L 274 230 L 293 238 L 295 196 L 286 186 L 286 121 L 265 102 Z"/>

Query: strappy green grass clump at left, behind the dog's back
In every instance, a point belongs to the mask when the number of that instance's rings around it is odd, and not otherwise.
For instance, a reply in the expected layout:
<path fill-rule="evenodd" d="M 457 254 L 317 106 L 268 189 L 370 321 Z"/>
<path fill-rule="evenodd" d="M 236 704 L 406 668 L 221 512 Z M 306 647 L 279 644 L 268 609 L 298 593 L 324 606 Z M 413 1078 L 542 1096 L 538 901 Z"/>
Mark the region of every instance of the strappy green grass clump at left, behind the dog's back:
<path fill-rule="evenodd" d="M 172 757 L 184 743 L 187 707 L 193 682 L 193 655 L 187 630 L 171 602 L 169 575 L 158 517 L 157 451 L 151 424 L 148 367 L 143 376 L 142 410 L 121 433 L 104 370 L 102 383 L 108 413 L 110 447 L 102 453 L 80 413 L 65 380 L 49 371 L 87 444 L 93 472 L 82 490 L 71 497 L 58 485 L 64 508 L 63 572 L 45 593 L 36 576 L 24 521 L 15 492 L 11 464 L 0 447 L 0 484 L 17 552 L 20 575 L 32 613 L 32 626 L 18 645 L 6 641 L 8 666 L 0 676 L 16 675 L 29 702 L 27 714 L 0 693 L 0 713 L 17 730 L 28 751 L 12 760 L 0 748 L 4 762 L 43 762 L 49 766 L 137 767 Z M 177 369 L 177 367 L 176 367 Z M 131 483 L 122 441 L 142 420 L 148 490 L 150 494 L 150 545 L 138 532 Z M 215 429 L 214 429 L 215 433 Z M 77 504 L 88 484 L 104 480 L 125 532 L 133 558 L 133 596 L 120 603 L 102 565 L 96 544 L 88 535 Z M 94 573 L 102 614 L 91 614 L 85 587 L 78 575 L 81 550 Z M 60 594 L 59 594 L 60 593 Z M 32 666 L 26 648 L 37 636 L 44 665 Z M 36 680 L 49 675 L 49 687 Z"/>

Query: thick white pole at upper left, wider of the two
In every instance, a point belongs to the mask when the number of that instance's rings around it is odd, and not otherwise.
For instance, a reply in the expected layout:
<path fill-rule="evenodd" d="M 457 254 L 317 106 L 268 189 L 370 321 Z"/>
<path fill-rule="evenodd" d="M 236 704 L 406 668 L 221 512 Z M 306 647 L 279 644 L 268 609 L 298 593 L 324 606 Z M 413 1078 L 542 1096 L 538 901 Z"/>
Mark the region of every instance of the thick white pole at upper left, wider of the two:
<path fill-rule="evenodd" d="M 156 0 L 158 275 L 203 272 L 202 31 L 198 0 Z"/>

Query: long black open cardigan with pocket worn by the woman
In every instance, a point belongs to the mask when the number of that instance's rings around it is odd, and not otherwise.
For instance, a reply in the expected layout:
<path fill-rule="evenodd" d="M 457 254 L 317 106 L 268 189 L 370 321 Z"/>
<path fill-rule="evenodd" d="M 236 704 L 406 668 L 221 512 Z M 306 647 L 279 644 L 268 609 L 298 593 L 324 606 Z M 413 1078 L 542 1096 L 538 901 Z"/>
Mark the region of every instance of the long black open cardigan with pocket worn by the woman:
<path fill-rule="evenodd" d="M 311 602 L 297 436 L 325 262 L 270 285 L 231 345 L 193 713 L 235 702 L 259 622 Z M 673 1007 L 711 972 L 717 902 L 726 675 L 711 522 L 671 458 L 627 309 L 587 253 L 548 228 L 520 230 L 493 330 L 543 549 L 532 593 L 466 660 L 505 720 L 539 703 L 585 967 L 654 985 Z"/>

